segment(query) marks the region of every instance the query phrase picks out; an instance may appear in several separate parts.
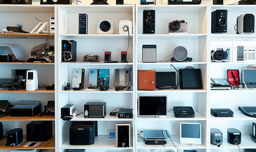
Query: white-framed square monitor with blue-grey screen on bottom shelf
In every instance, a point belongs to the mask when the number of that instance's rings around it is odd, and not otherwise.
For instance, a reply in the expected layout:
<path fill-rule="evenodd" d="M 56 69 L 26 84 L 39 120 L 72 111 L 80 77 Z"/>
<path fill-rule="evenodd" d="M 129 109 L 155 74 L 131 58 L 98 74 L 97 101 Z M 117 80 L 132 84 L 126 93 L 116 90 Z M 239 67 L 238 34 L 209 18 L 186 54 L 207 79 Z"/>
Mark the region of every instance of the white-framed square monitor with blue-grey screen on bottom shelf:
<path fill-rule="evenodd" d="M 201 144 L 201 123 L 180 123 L 180 143 Z"/>

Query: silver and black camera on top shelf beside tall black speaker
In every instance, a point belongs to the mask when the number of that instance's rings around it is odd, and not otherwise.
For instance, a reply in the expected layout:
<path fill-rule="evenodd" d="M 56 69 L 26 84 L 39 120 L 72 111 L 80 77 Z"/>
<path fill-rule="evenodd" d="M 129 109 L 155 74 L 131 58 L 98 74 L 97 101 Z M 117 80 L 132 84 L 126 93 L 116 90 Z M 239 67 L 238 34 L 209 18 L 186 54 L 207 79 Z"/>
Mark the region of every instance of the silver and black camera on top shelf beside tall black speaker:
<path fill-rule="evenodd" d="M 172 20 L 168 26 L 169 33 L 188 32 L 188 23 L 185 20 Z"/>

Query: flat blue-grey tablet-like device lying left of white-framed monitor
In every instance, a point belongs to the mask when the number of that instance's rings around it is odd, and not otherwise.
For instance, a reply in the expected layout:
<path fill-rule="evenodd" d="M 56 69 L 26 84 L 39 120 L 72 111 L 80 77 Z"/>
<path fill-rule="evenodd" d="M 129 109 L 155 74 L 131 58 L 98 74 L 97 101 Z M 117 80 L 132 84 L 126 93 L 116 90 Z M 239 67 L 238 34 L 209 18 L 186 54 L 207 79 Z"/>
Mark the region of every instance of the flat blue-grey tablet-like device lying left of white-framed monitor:
<path fill-rule="evenodd" d="M 165 140 L 171 138 L 168 130 L 143 130 L 143 136 L 146 140 Z"/>

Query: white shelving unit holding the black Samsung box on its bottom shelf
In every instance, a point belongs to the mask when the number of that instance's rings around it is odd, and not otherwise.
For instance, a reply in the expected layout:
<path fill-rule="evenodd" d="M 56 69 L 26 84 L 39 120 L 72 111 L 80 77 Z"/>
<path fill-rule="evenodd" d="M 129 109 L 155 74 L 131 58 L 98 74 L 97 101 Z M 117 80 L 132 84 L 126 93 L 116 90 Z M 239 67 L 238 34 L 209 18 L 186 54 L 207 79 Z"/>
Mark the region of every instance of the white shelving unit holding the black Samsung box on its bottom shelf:
<path fill-rule="evenodd" d="M 88 15 L 88 33 L 79 34 L 79 14 Z M 99 20 L 113 21 L 113 33 L 97 33 Z M 112 20 L 112 21 L 110 21 Z M 119 22 L 121 20 L 132 21 L 132 33 L 119 34 Z M 135 69 L 134 44 L 135 44 L 135 5 L 58 5 L 58 53 L 62 53 L 62 40 L 76 41 L 76 62 L 62 62 L 61 55 L 58 56 L 58 110 L 66 104 L 76 106 L 76 117 L 70 121 L 61 119 L 61 112 L 58 112 L 58 145 L 59 152 L 67 149 L 85 150 L 86 152 L 106 152 L 121 151 L 133 152 L 135 149 L 135 126 L 134 119 L 119 119 L 111 116 L 111 111 L 117 112 L 116 108 L 131 108 L 133 114 L 135 109 L 134 91 L 119 90 L 115 91 L 115 69 Z M 111 52 L 111 61 L 117 63 L 104 62 L 83 62 L 86 54 L 99 55 L 104 61 L 104 52 Z M 121 51 L 127 53 L 127 61 L 121 62 Z M 74 68 L 85 69 L 83 89 L 63 90 L 67 82 L 72 82 L 72 70 Z M 106 91 L 88 89 L 90 69 L 109 69 L 109 88 Z M 135 75 L 132 75 L 132 80 Z M 134 85 L 134 81 L 132 81 Z M 104 118 L 84 118 L 84 104 L 87 102 L 106 102 L 106 117 Z M 71 145 L 69 143 L 69 127 L 72 121 L 97 121 L 98 136 L 92 145 Z M 116 147 L 116 138 L 109 137 L 109 131 L 115 131 L 116 123 L 130 123 L 130 147 Z M 65 130 L 65 131 L 64 131 Z"/>

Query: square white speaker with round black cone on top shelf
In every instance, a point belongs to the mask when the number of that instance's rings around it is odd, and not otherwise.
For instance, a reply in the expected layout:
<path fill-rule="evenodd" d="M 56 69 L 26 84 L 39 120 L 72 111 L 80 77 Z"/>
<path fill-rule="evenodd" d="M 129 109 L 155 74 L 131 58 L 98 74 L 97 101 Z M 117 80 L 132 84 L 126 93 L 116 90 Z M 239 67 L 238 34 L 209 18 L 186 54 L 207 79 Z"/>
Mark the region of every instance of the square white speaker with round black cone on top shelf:
<path fill-rule="evenodd" d="M 113 20 L 98 20 L 97 33 L 98 34 L 114 33 L 114 21 Z"/>

